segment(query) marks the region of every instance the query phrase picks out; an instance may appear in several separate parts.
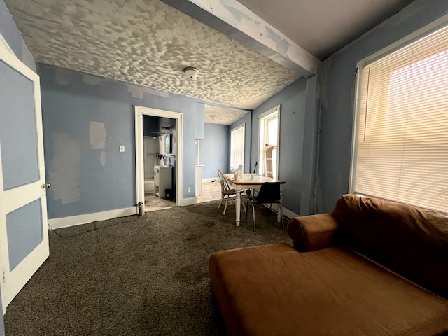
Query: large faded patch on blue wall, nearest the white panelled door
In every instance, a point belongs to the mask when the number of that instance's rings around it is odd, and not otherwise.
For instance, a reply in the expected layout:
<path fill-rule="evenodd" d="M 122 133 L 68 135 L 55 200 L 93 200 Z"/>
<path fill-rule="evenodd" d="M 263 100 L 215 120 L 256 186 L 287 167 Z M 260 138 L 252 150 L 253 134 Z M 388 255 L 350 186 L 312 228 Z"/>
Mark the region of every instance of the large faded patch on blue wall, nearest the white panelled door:
<path fill-rule="evenodd" d="M 53 200 L 62 204 L 80 201 L 81 149 L 69 134 L 52 136 L 54 155 L 50 163 L 50 181 Z"/>

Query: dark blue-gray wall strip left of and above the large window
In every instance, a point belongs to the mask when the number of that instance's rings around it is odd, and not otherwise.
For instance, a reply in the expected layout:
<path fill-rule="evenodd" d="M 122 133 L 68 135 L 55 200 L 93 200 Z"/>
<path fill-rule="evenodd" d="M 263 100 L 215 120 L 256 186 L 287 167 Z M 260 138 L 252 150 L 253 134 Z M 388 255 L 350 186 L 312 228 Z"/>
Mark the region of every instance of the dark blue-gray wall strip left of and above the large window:
<path fill-rule="evenodd" d="M 356 64 L 448 13 L 446 0 L 416 0 L 323 62 L 317 212 L 349 192 Z"/>

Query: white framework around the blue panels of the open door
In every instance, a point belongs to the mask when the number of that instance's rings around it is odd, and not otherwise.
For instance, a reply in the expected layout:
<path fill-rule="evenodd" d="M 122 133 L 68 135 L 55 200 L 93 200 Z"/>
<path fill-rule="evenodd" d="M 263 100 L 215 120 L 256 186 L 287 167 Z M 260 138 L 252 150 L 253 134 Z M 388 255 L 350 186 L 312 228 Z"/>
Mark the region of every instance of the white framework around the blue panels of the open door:
<path fill-rule="evenodd" d="M 1 268 L 1 301 L 3 314 L 36 270 L 48 258 L 50 253 L 47 229 L 47 201 L 45 190 L 45 161 L 43 156 L 43 127 L 41 112 L 41 87 L 39 77 L 28 68 L 10 50 L 8 43 L 0 34 L 0 59 L 18 73 L 29 78 L 34 86 L 34 111 L 36 116 L 37 158 L 39 177 L 37 181 L 27 183 L 9 190 L 3 189 L 3 167 L 0 148 L 0 268 Z M 15 209 L 41 200 L 42 241 L 14 269 L 10 270 L 6 215 Z"/>

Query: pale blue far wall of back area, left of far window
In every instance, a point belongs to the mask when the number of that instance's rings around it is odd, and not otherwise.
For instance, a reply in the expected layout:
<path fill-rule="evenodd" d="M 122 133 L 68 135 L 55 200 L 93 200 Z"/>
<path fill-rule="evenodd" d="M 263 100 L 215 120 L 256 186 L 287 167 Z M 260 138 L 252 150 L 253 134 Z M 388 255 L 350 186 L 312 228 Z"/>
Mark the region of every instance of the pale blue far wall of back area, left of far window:
<path fill-rule="evenodd" d="M 202 179 L 218 177 L 218 169 L 228 172 L 229 151 L 228 146 L 229 127 L 205 123 L 204 139 L 200 141 L 199 158 L 202 169 Z"/>

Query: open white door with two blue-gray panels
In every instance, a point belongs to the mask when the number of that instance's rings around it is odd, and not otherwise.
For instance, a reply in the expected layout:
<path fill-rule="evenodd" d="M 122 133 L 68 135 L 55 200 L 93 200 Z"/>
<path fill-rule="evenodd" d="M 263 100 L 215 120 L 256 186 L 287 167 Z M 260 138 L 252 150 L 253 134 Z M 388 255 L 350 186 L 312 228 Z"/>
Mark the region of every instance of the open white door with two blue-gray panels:
<path fill-rule="evenodd" d="M 48 258 L 39 78 L 0 35 L 0 266 L 6 307 Z"/>

